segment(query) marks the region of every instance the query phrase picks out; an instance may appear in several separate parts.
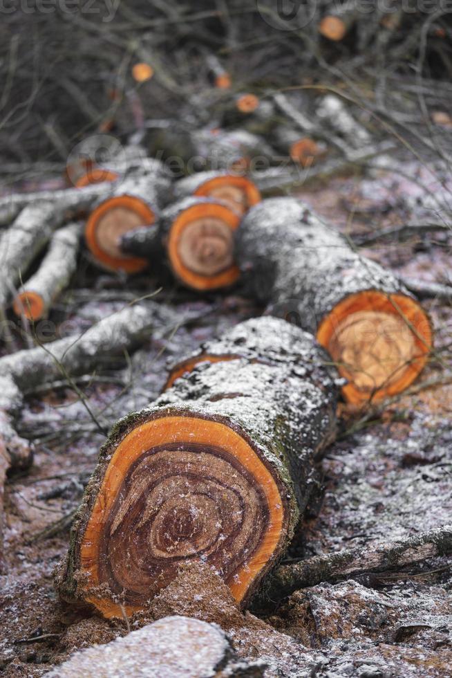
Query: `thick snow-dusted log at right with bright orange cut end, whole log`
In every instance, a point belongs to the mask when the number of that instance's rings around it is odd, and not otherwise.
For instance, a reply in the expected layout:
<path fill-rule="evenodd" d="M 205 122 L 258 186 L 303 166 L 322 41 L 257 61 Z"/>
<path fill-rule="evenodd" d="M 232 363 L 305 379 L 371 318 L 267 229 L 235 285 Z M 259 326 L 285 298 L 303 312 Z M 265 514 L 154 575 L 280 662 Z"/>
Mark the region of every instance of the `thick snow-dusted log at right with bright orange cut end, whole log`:
<path fill-rule="evenodd" d="M 249 210 L 236 261 L 273 315 L 316 334 L 348 380 L 351 403 L 401 392 L 429 358 L 431 324 L 415 297 L 301 201 L 274 198 Z"/>

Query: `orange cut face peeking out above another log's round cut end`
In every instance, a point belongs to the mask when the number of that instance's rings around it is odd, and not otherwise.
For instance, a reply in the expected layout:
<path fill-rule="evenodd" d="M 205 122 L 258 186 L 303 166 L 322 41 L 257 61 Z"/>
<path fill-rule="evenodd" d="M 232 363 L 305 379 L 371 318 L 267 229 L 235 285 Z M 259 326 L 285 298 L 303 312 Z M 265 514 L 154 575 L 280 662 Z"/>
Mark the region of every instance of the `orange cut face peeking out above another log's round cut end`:
<path fill-rule="evenodd" d="M 245 176 L 235 174 L 216 176 L 205 181 L 196 189 L 194 195 L 220 200 L 239 214 L 245 214 L 262 199 L 255 183 Z"/>

